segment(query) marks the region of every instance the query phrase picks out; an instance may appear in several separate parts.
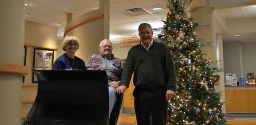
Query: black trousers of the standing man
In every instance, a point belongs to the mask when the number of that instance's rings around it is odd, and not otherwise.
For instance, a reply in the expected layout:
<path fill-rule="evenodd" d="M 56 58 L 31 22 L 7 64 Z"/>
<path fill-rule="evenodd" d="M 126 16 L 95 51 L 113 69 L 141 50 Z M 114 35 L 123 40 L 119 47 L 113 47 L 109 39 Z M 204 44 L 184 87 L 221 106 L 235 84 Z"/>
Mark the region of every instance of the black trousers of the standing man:
<path fill-rule="evenodd" d="M 135 87 L 133 95 L 137 125 L 150 125 L 150 116 L 153 125 L 166 125 L 167 101 L 165 87 L 154 90 Z"/>

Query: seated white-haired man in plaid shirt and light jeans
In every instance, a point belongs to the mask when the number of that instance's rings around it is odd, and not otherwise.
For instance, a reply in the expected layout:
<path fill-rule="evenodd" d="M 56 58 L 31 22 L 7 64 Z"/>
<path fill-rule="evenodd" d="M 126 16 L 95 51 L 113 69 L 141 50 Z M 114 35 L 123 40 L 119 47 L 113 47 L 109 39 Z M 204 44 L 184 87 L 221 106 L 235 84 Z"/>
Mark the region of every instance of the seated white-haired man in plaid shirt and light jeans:
<path fill-rule="evenodd" d="M 120 85 L 122 68 L 124 62 L 115 58 L 112 54 L 112 44 L 108 39 L 103 39 L 99 43 L 99 55 L 92 55 L 87 60 L 85 67 L 87 70 L 105 70 L 108 75 L 108 92 L 109 92 L 109 116 L 116 102 L 116 88 Z"/>

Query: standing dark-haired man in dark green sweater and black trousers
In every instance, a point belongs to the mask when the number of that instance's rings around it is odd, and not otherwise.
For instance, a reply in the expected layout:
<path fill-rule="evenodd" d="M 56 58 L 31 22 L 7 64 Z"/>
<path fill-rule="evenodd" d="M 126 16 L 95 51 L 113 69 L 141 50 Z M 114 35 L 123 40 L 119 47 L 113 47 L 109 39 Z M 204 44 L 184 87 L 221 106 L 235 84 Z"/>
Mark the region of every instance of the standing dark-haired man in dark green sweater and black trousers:
<path fill-rule="evenodd" d="M 176 75 L 172 56 L 165 44 L 153 41 L 151 25 L 139 26 L 140 44 L 132 47 L 122 72 L 117 93 L 129 87 L 134 72 L 134 107 L 137 125 L 166 125 L 167 101 L 175 94 Z"/>

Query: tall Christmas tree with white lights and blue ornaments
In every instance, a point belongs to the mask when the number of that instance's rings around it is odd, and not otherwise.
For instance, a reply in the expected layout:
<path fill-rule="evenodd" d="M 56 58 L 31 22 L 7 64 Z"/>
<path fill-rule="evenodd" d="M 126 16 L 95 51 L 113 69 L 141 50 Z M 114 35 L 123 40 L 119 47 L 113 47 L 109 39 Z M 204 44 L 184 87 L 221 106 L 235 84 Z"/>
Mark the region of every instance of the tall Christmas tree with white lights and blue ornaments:
<path fill-rule="evenodd" d="M 210 42 L 197 39 L 196 29 L 209 28 L 193 22 L 187 14 L 193 0 L 166 0 L 169 9 L 160 39 L 169 47 L 175 62 L 177 86 L 169 101 L 167 122 L 172 125 L 227 125 L 221 110 L 218 61 L 207 59 L 201 47 Z"/>

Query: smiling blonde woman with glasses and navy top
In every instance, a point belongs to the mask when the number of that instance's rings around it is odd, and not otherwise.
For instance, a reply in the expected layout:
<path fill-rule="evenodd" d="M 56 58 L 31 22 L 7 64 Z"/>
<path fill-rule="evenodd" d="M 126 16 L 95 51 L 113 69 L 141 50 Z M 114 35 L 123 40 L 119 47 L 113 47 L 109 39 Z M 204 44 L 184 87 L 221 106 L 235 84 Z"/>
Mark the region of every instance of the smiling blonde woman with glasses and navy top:
<path fill-rule="evenodd" d="M 86 69 L 84 61 L 75 56 L 78 49 L 78 38 L 76 36 L 66 36 L 62 42 L 62 50 L 66 51 L 66 53 L 56 59 L 52 69 Z"/>

